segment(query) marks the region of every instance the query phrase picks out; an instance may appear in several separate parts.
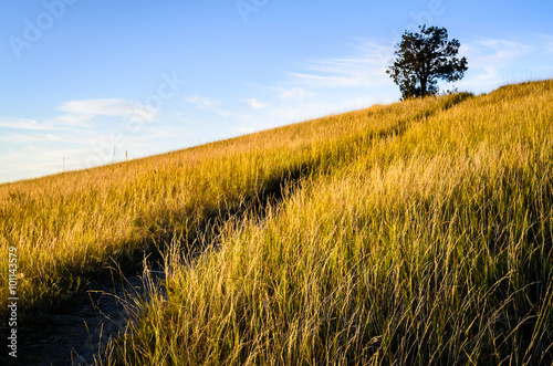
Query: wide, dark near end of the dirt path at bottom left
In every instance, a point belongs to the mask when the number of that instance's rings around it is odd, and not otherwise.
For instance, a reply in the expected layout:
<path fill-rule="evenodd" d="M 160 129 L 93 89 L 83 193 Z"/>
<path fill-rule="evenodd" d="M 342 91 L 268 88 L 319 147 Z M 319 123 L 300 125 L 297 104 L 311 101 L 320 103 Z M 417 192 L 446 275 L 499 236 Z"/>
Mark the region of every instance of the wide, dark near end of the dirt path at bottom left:
<path fill-rule="evenodd" d="M 111 338 L 122 335 L 136 311 L 136 299 L 147 300 L 153 291 L 163 292 L 165 273 L 152 271 L 149 281 L 143 275 L 95 283 L 88 299 L 46 315 L 21 345 L 21 365 L 94 365 Z M 153 290 L 155 289 L 155 290 Z"/>

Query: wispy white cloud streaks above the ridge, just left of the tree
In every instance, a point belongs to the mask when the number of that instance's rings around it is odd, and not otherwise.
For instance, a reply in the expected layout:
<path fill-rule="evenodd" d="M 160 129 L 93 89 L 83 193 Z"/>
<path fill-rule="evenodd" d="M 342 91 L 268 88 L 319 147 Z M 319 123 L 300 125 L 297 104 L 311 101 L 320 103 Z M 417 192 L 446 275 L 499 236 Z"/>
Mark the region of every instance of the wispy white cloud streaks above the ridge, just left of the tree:
<path fill-rule="evenodd" d="M 259 130 L 393 101 L 397 91 L 385 73 L 393 49 L 366 41 L 352 46 L 349 53 L 346 56 L 298 63 L 295 70 L 284 71 L 285 80 L 273 85 L 247 84 L 260 90 L 263 100 L 269 102 L 261 118 L 241 125 L 240 132 Z"/>

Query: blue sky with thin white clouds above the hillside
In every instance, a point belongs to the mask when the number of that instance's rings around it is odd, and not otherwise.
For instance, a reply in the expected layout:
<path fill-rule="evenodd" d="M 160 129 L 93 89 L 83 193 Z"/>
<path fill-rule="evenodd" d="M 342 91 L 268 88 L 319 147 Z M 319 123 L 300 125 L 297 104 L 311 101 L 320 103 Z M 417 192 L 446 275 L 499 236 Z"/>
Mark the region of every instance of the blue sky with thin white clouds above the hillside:
<path fill-rule="evenodd" d="M 461 42 L 469 71 L 459 90 L 553 77 L 549 0 L 27 0 L 0 9 L 0 182 L 395 102 L 385 69 L 419 23 Z"/>

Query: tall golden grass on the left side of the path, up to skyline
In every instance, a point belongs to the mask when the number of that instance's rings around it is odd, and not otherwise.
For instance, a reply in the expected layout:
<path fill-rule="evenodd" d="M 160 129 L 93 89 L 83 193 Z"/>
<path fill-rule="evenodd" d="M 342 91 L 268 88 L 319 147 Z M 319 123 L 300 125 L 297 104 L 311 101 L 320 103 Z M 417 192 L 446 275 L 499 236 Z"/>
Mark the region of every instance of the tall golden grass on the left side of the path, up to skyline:
<path fill-rule="evenodd" d="M 213 220 L 341 161 L 449 100 L 376 106 L 197 148 L 0 186 L 0 247 L 15 247 L 23 309 L 49 309 L 108 265 L 132 268 L 177 233 L 194 249 Z M 379 135 L 380 134 L 380 135 Z M 389 135 L 389 136 L 392 136 Z M 352 146 L 358 146 L 352 149 Z M 0 261 L 0 314 L 8 262 Z"/>

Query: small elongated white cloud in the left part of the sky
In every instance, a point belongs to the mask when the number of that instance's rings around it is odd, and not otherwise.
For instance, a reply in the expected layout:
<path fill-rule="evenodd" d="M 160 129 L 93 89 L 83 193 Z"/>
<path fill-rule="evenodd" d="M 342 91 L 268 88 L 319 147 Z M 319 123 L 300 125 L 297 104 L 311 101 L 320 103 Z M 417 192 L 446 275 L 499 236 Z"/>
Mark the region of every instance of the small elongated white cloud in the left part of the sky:
<path fill-rule="evenodd" d="M 148 105 L 117 98 L 70 101 L 60 105 L 58 109 L 71 115 L 121 116 L 134 122 L 150 122 L 157 114 L 157 111 Z"/>

